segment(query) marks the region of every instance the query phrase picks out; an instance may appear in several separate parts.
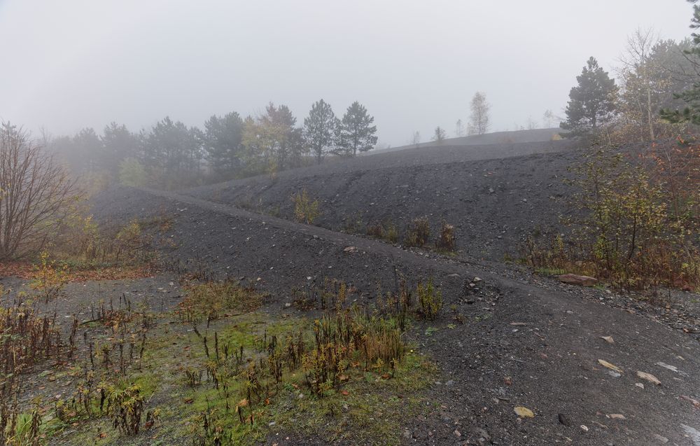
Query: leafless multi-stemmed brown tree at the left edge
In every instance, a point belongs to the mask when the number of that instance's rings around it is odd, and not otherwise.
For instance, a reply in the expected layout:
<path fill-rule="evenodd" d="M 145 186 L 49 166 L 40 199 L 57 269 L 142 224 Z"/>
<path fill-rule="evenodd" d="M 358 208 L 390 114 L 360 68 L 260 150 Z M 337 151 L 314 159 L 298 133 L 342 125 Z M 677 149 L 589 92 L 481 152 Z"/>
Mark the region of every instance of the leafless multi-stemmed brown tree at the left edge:
<path fill-rule="evenodd" d="M 41 249 L 75 195 L 75 181 L 27 132 L 0 124 L 0 259 Z"/>

